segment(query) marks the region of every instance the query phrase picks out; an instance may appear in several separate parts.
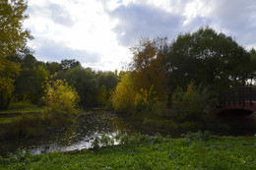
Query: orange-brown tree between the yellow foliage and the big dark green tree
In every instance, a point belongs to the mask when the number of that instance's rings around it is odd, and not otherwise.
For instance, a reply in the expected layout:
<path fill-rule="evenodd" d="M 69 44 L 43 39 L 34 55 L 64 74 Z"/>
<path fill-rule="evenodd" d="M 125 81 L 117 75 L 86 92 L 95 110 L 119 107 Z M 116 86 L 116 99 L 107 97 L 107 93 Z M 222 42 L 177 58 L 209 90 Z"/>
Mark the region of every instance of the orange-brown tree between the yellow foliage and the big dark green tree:
<path fill-rule="evenodd" d="M 133 53 L 132 71 L 135 88 L 153 91 L 161 98 L 167 93 L 164 68 L 161 65 L 159 49 L 154 41 L 144 37 L 139 44 L 131 48 Z"/>

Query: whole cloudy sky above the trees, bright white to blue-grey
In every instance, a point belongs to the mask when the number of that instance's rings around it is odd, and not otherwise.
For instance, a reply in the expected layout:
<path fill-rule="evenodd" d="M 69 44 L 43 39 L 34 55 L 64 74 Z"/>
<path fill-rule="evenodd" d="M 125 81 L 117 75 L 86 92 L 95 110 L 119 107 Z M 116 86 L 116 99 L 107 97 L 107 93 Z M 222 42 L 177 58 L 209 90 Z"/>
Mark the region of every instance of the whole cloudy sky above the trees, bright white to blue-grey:
<path fill-rule="evenodd" d="M 132 59 L 142 36 L 154 39 L 209 26 L 256 48 L 256 0 L 29 0 L 24 28 L 39 61 L 76 59 L 114 71 Z"/>

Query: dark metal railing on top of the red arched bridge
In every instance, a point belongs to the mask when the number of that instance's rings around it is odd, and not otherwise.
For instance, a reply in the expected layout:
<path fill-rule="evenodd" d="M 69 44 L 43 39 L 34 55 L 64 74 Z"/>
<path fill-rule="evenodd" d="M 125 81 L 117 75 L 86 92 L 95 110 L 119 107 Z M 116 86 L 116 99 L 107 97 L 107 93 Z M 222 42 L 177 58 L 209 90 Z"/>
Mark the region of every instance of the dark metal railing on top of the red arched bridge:
<path fill-rule="evenodd" d="M 256 87 L 255 86 L 241 86 L 229 89 L 219 95 L 219 106 L 224 106 L 226 103 L 230 105 L 232 102 L 239 104 L 245 104 L 250 102 L 252 106 L 253 101 L 256 101 Z"/>

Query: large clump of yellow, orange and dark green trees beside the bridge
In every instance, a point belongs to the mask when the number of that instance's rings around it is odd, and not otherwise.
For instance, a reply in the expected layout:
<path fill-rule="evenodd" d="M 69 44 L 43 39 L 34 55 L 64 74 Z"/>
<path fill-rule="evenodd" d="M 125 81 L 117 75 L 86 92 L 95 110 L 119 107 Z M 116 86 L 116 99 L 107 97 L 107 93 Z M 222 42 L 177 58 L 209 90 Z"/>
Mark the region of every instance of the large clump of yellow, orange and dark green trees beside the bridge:
<path fill-rule="evenodd" d="M 171 42 L 143 37 L 131 51 L 130 71 L 116 86 L 112 105 L 149 121 L 206 122 L 215 95 L 256 78 L 256 51 L 213 28 L 179 34 Z"/>

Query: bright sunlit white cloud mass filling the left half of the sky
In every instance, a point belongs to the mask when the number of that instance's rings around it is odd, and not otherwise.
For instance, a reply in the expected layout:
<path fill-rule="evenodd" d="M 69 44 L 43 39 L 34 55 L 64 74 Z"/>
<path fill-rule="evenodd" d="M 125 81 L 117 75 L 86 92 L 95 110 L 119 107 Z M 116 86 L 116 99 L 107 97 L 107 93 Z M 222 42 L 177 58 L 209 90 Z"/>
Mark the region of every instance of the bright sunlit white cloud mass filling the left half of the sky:
<path fill-rule="evenodd" d="M 107 10 L 117 6 L 114 1 L 109 1 Z M 104 62 L 102 70 L 120 68 L 120 62 L 129 60 L 128 49 L 118 44 L 112 31 L 116 22 L 109 19 L 100 1 L 31 0 L 28 13 L 30 19 L 25 27 L 32 30 L 35 39 L 30 44 L 38 51 L 36 55 L 39 59 L 49 60 L 52 57 L 52 61 L 60 61 L 59 57 L 67 57 L 61 51 L 65 47 L 64 51 L 69 51 L 69 55 L 71 51 L 80 51 L 79 56 L 82 52 L 85 55 L 97 54 L 97 57 L 100 56 L 97 61 L 93 60 L 94 57 L 87 58 L 91 61 L 79 59 L 92 66 Z M 60 43 L 63 45 L 60 46 Z M 53 50 L 53 46 L 57 49 Z M 56 57 L 58 51 L 59 57 Z M 76 54 L 70 57 L 77 57 Z"/>

